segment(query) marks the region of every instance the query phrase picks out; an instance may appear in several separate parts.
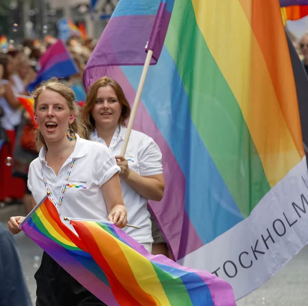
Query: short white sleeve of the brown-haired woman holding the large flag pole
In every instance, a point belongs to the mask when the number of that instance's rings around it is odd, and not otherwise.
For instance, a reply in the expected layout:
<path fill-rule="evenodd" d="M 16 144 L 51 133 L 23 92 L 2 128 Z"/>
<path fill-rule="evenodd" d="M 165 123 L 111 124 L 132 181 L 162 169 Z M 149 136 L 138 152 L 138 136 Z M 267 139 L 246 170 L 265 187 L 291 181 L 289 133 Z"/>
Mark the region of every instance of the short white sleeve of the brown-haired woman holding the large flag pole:
<path fill-rule="evenodd" d="M 149 137 L 149 141 L 138 152 L 140 175 L 156 175 L 163 173 L 162 153 L 156 142 Z"/>

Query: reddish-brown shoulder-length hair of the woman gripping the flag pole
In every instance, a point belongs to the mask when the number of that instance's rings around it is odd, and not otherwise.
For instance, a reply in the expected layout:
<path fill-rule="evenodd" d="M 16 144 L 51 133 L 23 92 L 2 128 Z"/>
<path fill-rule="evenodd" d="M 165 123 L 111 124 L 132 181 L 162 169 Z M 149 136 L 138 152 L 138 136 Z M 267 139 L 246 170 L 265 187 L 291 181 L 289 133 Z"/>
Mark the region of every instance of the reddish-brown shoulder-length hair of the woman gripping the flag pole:
<path fill-rule="evenodd" d="M 125 126 L 125 121 L 130 115 L 130 106 L 125 97 L 125 94 L 121 88 L 121 86 L 109 76 L 104 76 L 95 81 L 88 91 L 86 104 L 83 106 L 81 110 L 81 119 L 85 125 L 85 138 L 90 139 L 90 133 L 93 132 L 95 127 L 95 121 L 91 114 L 91 110 L 93 109 L 97 95 L 100 87 L 111 86 L 114 89 L 117 98 L 122 105 L 121 116 L 119 118 L 119 125 Z"/>

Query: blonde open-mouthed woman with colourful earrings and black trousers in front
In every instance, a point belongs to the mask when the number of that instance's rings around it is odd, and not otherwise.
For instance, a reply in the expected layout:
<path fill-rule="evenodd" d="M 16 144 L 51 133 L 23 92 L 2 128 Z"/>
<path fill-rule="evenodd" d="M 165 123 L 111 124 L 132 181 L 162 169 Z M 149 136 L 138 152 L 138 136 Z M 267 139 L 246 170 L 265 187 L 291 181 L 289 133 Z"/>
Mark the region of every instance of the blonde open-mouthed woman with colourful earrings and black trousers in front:
<path fill-rule="evenodd" d="M 50 199 L 64 217 L 107 219 L 119 228 L 127 224 L 121 194 L 120 168 L 102 144 L 82 139 L 73 91 L 57 80 L 47 81 L 34 94 L 34 119 L 38 125 L 38 158 L 29 167 L 28 188 L 33 206 L 51 192 Z M 21 231 L 24 217 L 11 217 L 9 230 Z M 36 306 L 105 305 L 72 278 L 44 252 L 35 273 Z"/>

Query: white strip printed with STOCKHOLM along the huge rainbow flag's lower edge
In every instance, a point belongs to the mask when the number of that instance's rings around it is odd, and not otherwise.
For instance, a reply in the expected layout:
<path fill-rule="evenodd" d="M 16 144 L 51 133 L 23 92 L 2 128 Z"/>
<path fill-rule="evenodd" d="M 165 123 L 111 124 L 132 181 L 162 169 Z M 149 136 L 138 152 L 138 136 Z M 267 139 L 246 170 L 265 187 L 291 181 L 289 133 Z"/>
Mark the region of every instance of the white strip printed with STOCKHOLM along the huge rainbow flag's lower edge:
<path fill-rule="evenodd" d="M 228 281 L 240 299 L 259 288 L 308 243 L 306 159 L 235 227 L 179 261 Z"/>

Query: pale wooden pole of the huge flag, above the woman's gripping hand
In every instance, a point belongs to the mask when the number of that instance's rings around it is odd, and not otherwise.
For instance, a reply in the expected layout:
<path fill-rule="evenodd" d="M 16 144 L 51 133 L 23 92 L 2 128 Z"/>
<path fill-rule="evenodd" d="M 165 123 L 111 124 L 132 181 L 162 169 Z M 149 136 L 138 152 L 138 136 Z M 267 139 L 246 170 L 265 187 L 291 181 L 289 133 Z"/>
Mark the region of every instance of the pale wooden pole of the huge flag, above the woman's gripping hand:
<path fill-rule="evenodd" d="M 120 154 L 121 156 L 125 155 L 125 152 L 126 152 L 126 149 L 127 149 L 127 144 L 128 144 L 130 132 L 132 130 L 134 118 L 136 117 L 141 93 L 142 93 L 145 78 L 146 78 L 150 63 L 151 63 L 152 55 L 153 55 L 153 51 L 148 50 L 147 55 L 146 55 L 146 59 L 145 59 L 145 63 L 144 63 L 144 66 L 143 66 L 141 78 L 140 78 L 140 81 L 139 81 L 138 89 L 137 89 L 137 92 L 136 92 L 136 97 L 133 101 L 133 106 L 132 106 L 132 109 L 131 109 L 131 114 L 130 114 L 130 117 L 129 117 L 128 126 L 127 126 L 127 130 L 126 130 L 126 135 L 125 135 L 125 138 L 124 138 L 124 144 L 123 144 L 121 154 Z"/>

